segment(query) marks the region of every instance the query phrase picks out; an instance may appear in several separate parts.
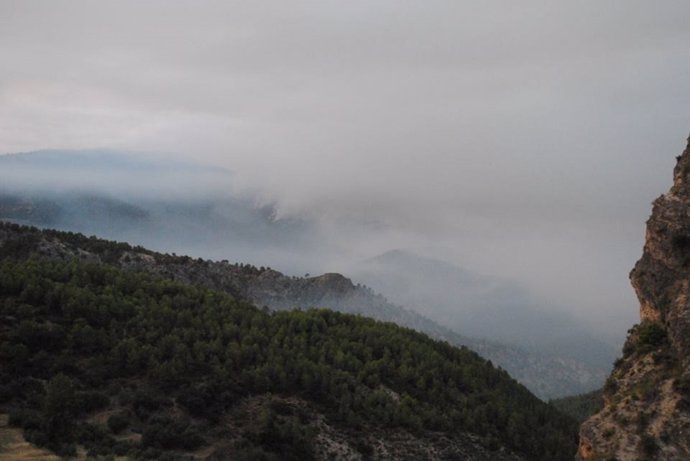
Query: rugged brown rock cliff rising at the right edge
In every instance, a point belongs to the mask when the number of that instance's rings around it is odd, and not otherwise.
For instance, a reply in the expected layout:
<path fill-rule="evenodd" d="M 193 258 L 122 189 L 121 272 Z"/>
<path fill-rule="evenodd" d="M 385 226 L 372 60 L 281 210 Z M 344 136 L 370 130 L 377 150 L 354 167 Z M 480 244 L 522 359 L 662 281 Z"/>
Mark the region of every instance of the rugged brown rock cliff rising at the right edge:
<path fill-rule="evenodd" d="M 690 138 L 677 160 L 630 273 L 640 324 L 580 429 L 581 460 L 690 459 Z"/>

